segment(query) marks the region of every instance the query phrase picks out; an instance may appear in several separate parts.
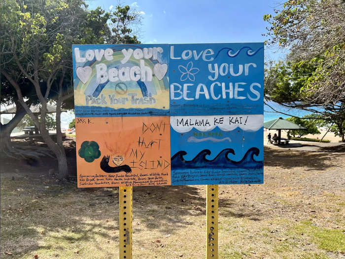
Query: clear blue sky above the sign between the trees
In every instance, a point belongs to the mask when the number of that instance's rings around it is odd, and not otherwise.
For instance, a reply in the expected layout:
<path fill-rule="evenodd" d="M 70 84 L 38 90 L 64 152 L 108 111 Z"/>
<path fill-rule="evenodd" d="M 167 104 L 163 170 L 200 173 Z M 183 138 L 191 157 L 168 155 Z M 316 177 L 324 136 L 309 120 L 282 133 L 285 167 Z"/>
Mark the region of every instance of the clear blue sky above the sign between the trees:
<path fill-rule="evenodd" d="M 142 43 L 262 42 L 266 13 L 282 0 L 124 0 L 142 16 Z M 89 8 L 108 10 L 113 0 L 87 1 Z M 266 59 L 285 54 L 266 49 Z"/>

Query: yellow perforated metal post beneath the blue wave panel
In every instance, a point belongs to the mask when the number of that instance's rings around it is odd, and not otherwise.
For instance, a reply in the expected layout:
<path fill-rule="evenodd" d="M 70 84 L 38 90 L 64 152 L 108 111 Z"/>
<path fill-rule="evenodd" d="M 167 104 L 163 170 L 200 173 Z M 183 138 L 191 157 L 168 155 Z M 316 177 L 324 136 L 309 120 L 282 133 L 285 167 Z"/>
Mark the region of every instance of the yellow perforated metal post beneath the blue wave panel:
<path fill-rule="evenodd" d="M 207 185 L 207 259 L 218 259 L 218 185 Z"/>

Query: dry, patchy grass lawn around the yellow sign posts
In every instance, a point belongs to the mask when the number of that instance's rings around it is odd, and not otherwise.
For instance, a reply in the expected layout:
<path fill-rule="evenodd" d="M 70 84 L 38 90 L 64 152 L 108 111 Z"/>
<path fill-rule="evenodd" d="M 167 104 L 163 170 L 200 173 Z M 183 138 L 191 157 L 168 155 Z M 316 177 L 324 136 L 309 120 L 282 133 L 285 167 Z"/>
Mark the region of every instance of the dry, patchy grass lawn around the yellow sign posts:
<path fill-rule="evenodd" d="M 219 258 L 343 258 L 344 186 L 344 153 L 265 148 L 264 185 L 219 186 Z M 0 194 L 1 258 L 118 258 L 118 188 L 39 172 L 2 177 Z M 134 187 L 133 258 L 205 258 L 205 195 Z"/>

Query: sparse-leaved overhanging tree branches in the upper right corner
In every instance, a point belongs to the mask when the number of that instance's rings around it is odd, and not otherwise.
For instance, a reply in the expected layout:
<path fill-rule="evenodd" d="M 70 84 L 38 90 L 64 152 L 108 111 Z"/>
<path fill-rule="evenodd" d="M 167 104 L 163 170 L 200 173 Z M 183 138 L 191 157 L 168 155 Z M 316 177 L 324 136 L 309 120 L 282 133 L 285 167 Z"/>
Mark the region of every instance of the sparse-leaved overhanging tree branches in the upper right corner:
<path fill-rule="evenodd" d="M 345 1 L 288 0 L 270 23 L 267 44 L 289 48 L 288 59 L 312 66 L 304 84 L 305 103 L 324 106 L 345 101 Z"/>

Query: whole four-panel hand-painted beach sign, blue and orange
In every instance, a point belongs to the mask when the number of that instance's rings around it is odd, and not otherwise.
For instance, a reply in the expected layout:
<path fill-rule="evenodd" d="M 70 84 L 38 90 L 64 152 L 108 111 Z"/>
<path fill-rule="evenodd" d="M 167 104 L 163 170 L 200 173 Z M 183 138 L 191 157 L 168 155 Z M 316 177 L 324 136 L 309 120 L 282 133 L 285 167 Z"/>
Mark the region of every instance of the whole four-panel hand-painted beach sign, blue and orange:
<path fill-rule="evenodd" d="M 263 43 L 72 52 L 79 187 L 263 183 Z"/>

